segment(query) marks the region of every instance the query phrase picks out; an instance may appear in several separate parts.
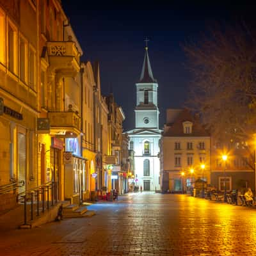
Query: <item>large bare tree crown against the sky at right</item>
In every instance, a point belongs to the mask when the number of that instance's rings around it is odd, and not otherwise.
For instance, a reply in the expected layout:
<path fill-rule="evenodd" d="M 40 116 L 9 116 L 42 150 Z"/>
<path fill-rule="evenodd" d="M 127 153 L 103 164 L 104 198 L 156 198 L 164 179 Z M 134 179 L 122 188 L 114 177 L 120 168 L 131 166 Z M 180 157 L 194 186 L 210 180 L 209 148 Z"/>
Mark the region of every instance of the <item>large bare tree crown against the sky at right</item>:
<path fill-rule="evenodd" d="M 184 50 L 195 76 L 189 106 L 215 138 L 246 141 L 256 132 L 256 41 L 246 26 L 212 29 Z"/>

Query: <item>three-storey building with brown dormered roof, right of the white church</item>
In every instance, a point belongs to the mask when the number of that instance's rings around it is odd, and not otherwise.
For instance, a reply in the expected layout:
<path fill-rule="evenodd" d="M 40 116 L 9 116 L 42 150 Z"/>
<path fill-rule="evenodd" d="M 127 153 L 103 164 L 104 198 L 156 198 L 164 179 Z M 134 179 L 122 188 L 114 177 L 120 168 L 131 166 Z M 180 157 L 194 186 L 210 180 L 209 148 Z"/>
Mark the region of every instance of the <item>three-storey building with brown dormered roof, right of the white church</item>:
<path fill-rule="evenodd" d="M 188 109 L 167 109 L 161 140 L 161 190 L 182 192 L 211 183 L 210 136 Z"/>

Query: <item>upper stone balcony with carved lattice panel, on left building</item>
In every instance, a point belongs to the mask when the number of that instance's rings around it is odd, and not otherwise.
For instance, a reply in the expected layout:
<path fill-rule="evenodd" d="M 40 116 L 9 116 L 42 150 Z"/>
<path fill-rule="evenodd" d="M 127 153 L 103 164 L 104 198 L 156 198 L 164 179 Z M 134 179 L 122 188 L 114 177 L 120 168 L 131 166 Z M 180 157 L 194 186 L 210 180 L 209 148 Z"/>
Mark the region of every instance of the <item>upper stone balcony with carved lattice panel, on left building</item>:
<path fill-rule="evenodd" d="M 79 72 L 79 52 L 75 42 L 47 42 L 47 55 L 51 70 L 66 76 L 76 76 Z"/>

